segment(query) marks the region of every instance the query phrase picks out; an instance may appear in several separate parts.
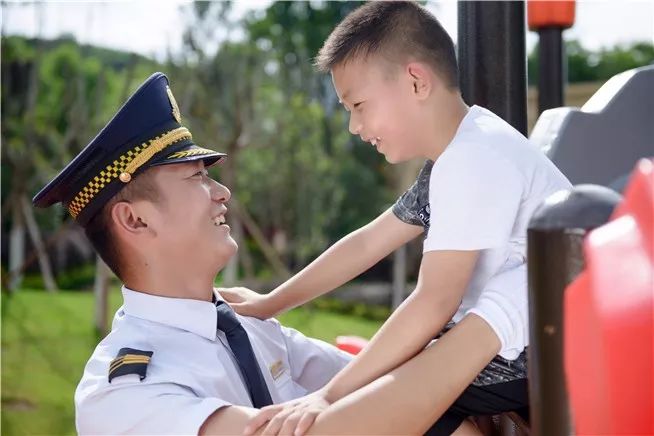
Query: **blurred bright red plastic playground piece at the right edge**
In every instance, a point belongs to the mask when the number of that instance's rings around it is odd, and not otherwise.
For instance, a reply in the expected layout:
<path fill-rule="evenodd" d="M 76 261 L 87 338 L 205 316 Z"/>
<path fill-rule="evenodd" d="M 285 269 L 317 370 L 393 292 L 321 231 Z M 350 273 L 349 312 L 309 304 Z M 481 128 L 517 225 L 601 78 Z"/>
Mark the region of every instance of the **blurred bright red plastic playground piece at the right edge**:
<path fill-rule="evenodd" d="M 584 242 L 565 291 L 564 360 L 578 434 L 654 434 L 654 161 Z"/>

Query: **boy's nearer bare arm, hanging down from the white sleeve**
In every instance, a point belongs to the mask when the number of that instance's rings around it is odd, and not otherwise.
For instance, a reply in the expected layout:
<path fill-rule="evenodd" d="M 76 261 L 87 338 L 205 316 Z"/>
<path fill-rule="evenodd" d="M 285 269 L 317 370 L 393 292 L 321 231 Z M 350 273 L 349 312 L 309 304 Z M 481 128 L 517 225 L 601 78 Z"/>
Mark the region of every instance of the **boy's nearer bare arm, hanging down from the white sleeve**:
<path fill-rule="evenodd" d="M 306 409 L 309 415 L 315 417 L 316 412 L 320 412 L 317 410 L 320 407 L 316 408 L 315 404 L 324 404 L 323 399 L 333 403 L 415 356 L 451 319 L 461 302 L 477 257 L 478 251 L 425 253 L 415 291 L 384 323 L 356 359 L 325 388 L 307 397 L 304 400 L 306 404 L 289 403 L 286 410 L 278 407 L 272 407 L 270 411 L 264 409 L 246 430 L 260 427 L 275 414 L 284 419 L 275 418 L 270 425 L 287 425 L 284 424 L 287 417 L 300 422 L 304 412 L 298 413 L 298 409 Z"/>

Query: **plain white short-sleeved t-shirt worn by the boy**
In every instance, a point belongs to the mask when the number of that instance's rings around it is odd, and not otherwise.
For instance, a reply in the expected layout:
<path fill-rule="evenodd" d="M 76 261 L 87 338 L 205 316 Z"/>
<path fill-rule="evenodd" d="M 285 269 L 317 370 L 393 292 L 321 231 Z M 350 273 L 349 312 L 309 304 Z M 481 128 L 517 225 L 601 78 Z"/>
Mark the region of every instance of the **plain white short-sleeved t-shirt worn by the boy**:
<path fill-rule="evenodd" d="M 470 108 L 429 179 L 423 252 L 480 250 L 454 322 L 475 313 L 515 359 L 529 343 L 527 226 L 534 210 L 570 182 L 507 122 Z"/>

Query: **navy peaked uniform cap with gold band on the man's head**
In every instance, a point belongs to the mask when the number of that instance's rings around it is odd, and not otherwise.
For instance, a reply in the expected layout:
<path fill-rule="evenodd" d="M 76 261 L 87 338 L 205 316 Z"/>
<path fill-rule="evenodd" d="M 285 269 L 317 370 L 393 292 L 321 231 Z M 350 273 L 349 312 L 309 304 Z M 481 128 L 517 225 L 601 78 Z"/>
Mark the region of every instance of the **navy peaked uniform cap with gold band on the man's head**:
<path fill-rule="evenodd" d="M 33 203 L 62 202 L 85 225 L 133 175 L 163 164 L 225 155 L 198 147 L 181 125 L 175 97 L 163 73 L 151 75 L 95 138 L 41 191 Z"/>

